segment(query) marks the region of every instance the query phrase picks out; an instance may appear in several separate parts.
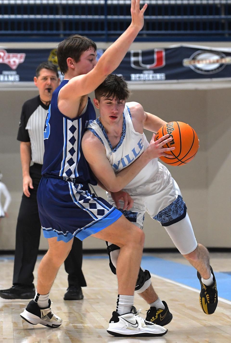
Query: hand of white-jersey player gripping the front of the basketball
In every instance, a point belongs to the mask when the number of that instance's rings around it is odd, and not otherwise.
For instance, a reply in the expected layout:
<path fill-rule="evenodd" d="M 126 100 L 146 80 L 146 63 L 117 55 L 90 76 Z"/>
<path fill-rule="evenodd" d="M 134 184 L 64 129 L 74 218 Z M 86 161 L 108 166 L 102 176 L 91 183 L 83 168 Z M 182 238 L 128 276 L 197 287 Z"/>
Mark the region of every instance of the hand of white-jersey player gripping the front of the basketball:
<path fill-rule="evenodd" d="M 153 134 L 153 137 L 150 141 L 150 144 L 147 148 L 147 150 L 149 150 L 149 154 L 152 158 L 156 158 L 156 157 L 160 157 L 160 156 L 165 156 L 165 157 L 173 157 L 174 156 L 169 156 L 169 154 L 166 154 L 166 151 L 172 151 L 175 149 L 175 147 L 170 147 L 170 148 L 166 148 L 163 147 L 163 145 L 169 143 L 172 141 L 172 137 L 169 138 L 169 134 L 164 135 L 163 137 L 159 138 L 156 142 L 155 142 L 155 133 Z"/>

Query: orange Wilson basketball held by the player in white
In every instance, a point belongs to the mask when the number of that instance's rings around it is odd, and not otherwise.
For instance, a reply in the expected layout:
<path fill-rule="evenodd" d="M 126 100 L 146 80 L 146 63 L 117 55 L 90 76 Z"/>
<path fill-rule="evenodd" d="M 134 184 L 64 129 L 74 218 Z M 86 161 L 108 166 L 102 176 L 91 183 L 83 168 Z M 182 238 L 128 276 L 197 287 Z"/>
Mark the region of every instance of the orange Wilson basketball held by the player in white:
<path fill-rule="evenodd" d="M 191 126 L 182 121 L 171 121 L 159 129 L 155 141 L 165 134 L 170 134 L 169 138 L 172 137 L 173 140 L 165 144 L 164 147 L 174 146 L 175 149 L 166 152 L 166 154 L 171 155 L 170 158 L 160 156 L 161 161 L 171 166 L 183 166 L 195 157 L 199 142 L 197 134 Z"/>

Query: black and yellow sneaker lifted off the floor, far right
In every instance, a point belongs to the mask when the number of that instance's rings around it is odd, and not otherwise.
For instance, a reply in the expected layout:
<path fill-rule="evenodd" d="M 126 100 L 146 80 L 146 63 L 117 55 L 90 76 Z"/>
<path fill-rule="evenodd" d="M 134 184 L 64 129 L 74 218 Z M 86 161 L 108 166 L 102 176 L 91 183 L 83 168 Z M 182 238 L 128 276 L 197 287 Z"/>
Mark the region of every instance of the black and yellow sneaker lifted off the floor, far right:
<path fill-rule="evenodd" d="M 199 296 L 199 301 L 200 301 L 200 306 L 202 310 L 207 314 L 211 315 L 212 313 L 215 312 L 216 307 L 217 307 L 217 284 L 216 284 L 216 279 L 214 276 L 214 272 L 212 271 L 212 267 L 210 266 L 210 270 L 213 276 L 213 283 L 211 286 L 206 286 L 203 284 L 201 281 L 201 275 L 199 272 L 197 272 L 197 277 L 200 281 L 200 286 L 201 286 L 201 291 L 200 291 L 200 296 Z"/>

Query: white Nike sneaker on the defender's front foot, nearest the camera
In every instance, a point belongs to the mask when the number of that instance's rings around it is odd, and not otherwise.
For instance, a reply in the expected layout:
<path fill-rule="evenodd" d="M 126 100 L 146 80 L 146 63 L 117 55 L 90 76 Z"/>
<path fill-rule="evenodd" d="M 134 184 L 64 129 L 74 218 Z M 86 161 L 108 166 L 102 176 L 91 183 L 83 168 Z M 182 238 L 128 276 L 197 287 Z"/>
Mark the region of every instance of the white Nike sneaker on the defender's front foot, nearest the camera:
<path fill-rule="evenodd" d="M 124 315 L 119 315 L 118 312 L 112 312 L 112 318 L 109 322 L 107 332 L 113 336 L 163 336 L 167 333 L 167 329 L 162 326 L 153 324 L 138 316 L 139 311 L 136 311 L 132 306 L 131 312 Z"/>

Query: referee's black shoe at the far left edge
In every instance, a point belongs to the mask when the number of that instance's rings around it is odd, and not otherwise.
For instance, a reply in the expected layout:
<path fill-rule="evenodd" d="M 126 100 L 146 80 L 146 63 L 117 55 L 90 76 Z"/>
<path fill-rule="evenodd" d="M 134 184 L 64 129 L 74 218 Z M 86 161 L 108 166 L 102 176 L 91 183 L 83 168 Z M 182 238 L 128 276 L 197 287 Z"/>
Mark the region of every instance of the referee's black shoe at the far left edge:
<path fill-rule="evenodd" d="M 27 285 L 13 285 L 8 289 L 0 290 L 0 297 L 3 299 L 33 299 L 35 297 L 35 287 Z"/>

